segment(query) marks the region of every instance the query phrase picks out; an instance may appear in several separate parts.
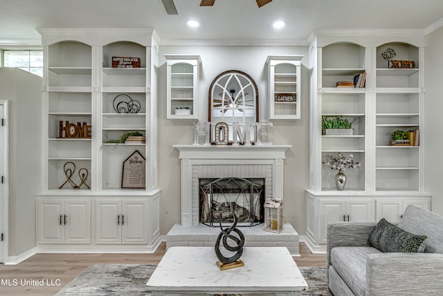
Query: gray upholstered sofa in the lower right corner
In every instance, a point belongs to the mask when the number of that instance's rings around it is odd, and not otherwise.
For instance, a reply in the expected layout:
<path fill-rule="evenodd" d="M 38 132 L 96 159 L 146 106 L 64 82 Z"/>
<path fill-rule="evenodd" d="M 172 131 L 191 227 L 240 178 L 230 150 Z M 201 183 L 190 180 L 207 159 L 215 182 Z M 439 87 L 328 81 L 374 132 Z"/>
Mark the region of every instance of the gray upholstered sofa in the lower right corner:
<path fill-rule="evenodd" d="M 397 227 L 426 235 L 422 253 L 381 252 L 372 247 L 369 238 L 376 226 L 329 223 L 326 281 L 331 293 L 443 295 L 443 217 L 419 207 L 406 208 Z"/>

